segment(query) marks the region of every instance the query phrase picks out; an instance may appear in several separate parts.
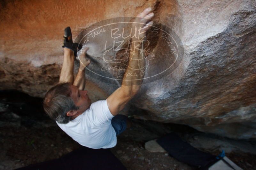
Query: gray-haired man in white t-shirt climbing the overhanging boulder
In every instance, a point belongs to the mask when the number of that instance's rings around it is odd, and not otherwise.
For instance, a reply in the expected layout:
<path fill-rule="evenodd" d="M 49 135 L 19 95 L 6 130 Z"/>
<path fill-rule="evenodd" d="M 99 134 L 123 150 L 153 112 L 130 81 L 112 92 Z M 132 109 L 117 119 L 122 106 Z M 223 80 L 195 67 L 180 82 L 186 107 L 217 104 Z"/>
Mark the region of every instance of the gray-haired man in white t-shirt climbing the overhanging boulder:
<path fill-rule="evenodd" d="M 141 74 L 141 69 L 134 69 L 145 66 L 145 58 L 142 57 L 142 40 L 145 39 L 146 31 L 153 22 L 149 20 L 154 16 L 151 8 L 145 9 L 137 15 L 133 28 L 140 28 L 137 23 L 143 23 L 140 33 L 132 38 L 134 43 L 131 49 L 132 60 L 129 61 L 126 73 L 136 72 Z M 116 89 L 106 100 L 91 103 L 88 91 L 85 88 L 85 68 L 90 64 L 86 57 L 89 48 L 83 48 L 78 55 L 80 60 L 79 71 L 74 79 L 74 55 L 72 48 L 72 34 L 70 27 L 65 29 L 64 35 L 64 60 L 60 73 L 59 83 L 52 87 L 45 95 L 43 107 L 45 112 L 56 121 L 58 126 L 80 145 L 89 148 L 111 148 L 117 143 L 116 136 L 122 133 L 127 125 L 127 117 L 117 115 L 125 105 L 135 96 L 142 84 L 141 79 L 132 80 L 132 77 L 124 76 L 122 85 Z M 74 45 L 73 45 L 74 46 Z M 143 49 L 142 49 L 143 50 Z M 141 60 L 143 58 L 143 60 Z M 140 59 L 140 60 L 136 60 Z"/>

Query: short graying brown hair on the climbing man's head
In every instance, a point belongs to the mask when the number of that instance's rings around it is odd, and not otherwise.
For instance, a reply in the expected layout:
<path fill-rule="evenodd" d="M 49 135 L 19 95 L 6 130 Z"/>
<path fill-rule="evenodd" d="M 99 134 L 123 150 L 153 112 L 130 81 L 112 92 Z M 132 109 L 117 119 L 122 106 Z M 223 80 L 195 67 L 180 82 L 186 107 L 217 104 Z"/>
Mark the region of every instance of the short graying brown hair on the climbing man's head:
<path fill-rule="evenodd" d="M 50 118 L 56 120 L 60 124 L 69 122 L 70 117 L 67 112 L 70 110 L 78 110 L 71 98 L 71 83 L 59 83 L 52 87 L 46 94 L 43 100 L 43 109 Z"/>

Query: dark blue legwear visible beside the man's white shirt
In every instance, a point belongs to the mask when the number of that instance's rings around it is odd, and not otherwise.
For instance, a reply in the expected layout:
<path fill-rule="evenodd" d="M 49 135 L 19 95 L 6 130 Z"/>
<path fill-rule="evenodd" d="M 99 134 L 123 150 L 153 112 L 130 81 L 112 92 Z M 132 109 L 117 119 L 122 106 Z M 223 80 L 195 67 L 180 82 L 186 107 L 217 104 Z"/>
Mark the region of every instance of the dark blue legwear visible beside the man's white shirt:
<path fill-rule="evenodd" d="M 112 118 L 111 124 L 116 131 L 116 135 L 120 135 L 123 131 L 126 130 L 127 116 L 125 115 L 116 115 Z"/>

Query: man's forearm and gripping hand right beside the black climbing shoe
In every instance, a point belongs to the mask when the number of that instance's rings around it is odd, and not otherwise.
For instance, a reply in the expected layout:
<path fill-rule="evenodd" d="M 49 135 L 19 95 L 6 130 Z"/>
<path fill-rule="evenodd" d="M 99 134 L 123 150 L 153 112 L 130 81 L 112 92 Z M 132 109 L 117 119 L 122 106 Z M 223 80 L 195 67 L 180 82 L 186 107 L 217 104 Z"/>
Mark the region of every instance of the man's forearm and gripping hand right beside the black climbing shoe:
<path fill-rule="evenodd" d="M 79 90 L 84 90 L 85 88 L 85 67 L 90 64 L 90 60 L 86 57 L 86 51 L 89 48 L 84 48 L 82 51 L 78 52 L 78 58 L 80 60 L 80 67 L 78 73 L 75 77 L 74 86 L 77 86 Z"/>

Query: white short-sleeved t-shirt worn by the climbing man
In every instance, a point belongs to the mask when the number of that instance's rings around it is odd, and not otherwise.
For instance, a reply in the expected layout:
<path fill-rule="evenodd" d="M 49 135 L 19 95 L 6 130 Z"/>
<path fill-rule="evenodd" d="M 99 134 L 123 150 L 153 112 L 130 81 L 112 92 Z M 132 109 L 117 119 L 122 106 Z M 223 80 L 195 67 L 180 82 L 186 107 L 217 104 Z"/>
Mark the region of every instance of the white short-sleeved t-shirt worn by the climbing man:
<path fill-rule="evenodd" d="M 107 100 L 99 100 L 81 115 L 58 126 L 80 145 L 99 149 L 116 145 L 116 132 L 111 124 L 113 115 L 109 111 Z"/>

